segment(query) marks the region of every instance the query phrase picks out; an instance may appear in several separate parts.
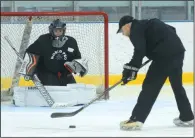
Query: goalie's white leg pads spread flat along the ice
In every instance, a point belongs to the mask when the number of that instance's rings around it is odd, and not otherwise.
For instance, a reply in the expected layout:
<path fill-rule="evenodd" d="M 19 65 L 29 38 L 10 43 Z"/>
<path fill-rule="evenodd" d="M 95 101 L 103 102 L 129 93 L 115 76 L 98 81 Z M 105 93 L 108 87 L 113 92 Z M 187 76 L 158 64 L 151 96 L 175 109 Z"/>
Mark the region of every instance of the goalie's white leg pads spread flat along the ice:
<path fill-rule="evenodd" d="M 55 103 L 52 108 L 87 104 L 96 97 L 94 85 L 68 84 L 67 86 L 45 86 Z M 84 96 L 83 96 L 84 95 Z M 16 106 L 42 106 L 49 105 L 41 96 L 37 87 L 14 87 Z"/>

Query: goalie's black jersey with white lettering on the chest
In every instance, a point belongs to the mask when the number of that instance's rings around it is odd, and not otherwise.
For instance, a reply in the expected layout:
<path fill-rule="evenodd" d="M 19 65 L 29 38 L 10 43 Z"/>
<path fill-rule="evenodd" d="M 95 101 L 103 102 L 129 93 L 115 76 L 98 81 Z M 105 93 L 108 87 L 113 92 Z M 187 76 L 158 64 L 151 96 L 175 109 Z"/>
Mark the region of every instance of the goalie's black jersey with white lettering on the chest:
<path fill-rule="evenodd" d="M 69 71 L 65 69 L 64 63 L 73 59 L 80 59 L 77 41 L 70 36 L 66 36 L 67 41 L 61 48 L 52 46 L 52 37 L 50 34 L 41 35 L 33 44 L 31 44 L 26 52 L 39 55 L 37 71 L 51 73 L 65 73 Z"/>

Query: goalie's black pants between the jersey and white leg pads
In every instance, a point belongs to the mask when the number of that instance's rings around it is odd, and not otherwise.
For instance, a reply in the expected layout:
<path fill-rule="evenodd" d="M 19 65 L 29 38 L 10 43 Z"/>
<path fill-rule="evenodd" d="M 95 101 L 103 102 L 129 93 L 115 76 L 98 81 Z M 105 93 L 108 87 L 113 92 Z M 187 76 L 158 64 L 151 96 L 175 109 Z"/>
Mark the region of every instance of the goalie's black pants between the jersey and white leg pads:
<path fill-rule="evenodd" d="M 67 84 L 76 83 L 72 74 L 61 74 L 41 71 L 37 73 L 43 85 L 48 86 L 66 86 Z"/>

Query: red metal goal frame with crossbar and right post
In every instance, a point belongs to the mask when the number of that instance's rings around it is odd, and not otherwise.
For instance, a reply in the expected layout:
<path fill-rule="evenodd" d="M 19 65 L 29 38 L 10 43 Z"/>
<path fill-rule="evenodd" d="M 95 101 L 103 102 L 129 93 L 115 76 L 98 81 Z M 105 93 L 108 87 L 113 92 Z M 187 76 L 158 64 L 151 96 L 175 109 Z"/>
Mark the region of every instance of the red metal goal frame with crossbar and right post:
<path fill-rule="evenodd" d="M 102 16 L 104 21 L 104 89 L 109 87 L 109 48 L 108 48 L 108 15 L 98 11 L 78 12 L 1 12 L 1 16 Z M 109 92 L 105 92 L 105 99 L 109 99 Z"/>

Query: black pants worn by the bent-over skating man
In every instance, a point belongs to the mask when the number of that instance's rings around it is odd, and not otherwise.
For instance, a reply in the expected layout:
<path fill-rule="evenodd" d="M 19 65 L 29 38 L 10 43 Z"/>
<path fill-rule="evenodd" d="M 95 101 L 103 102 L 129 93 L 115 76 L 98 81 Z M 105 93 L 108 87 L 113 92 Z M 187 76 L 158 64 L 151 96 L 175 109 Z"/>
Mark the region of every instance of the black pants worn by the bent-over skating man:
<path fill-rule="evenodd" d="M 180 112 L 179 118 L 182 121 L 194 119 L 182 84 L 183 59 L 184 54 L 182 53 L 172 59 L 155 60 L 151 63 L 130 119 L 145 122 L 168 77 Z"/>

